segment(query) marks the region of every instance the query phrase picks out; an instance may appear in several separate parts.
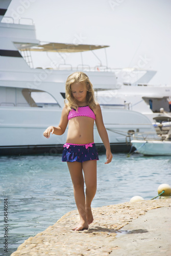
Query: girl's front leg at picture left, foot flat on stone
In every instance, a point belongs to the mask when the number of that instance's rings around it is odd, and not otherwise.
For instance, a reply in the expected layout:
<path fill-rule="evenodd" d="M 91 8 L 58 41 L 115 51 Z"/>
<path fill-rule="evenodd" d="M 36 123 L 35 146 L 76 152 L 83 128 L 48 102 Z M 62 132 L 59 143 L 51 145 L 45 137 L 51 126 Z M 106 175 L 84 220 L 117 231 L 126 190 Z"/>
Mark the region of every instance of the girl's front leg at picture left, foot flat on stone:
<path fill-rule="evenodd" d="M 67 162 L 72 184 L 74 187 L 74 196 L 76 205 L 80 215 L 80 223 L 73 230 L 82 230 L 88 228 L 88 222 L 85 209 L 85 194 L 84 194 L 84 177 L 82 172 L 82 163 Z"/>

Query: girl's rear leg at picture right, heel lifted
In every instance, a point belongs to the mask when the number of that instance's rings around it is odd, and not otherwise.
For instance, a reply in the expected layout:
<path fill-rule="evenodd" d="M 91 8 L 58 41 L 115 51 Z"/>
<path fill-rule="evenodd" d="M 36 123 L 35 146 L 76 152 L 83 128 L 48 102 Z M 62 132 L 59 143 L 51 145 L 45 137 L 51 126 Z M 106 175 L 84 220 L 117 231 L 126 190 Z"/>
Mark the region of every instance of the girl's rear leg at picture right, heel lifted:
<path fill-rule="evenodd" d="M 93 216 L 91 212 L 91 202 L 96 193 L 96 169 L 97 163 L 95 160 L 85 161 L 83 162 L 83 171 L 84 171 L 84 179 L 86 184 L 86 200 L 85 200 L 85 208 L 86 208 L 86 216 L 88 224 L 93 222 Z"/>

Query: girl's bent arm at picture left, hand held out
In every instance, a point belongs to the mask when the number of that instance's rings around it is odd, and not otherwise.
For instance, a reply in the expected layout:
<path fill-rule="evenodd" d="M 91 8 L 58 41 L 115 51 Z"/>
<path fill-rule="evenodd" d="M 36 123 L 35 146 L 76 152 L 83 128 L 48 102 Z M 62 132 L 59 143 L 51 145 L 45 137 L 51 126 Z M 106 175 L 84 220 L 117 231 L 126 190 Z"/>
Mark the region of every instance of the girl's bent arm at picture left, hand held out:
<path fill-rule="evenodd" d="M 57 127 L 55 126 L 47 127 L 47 129 L 43 133 L 44 137 L 49 138 L 51 133 L 55 135 L 64 134 L 67 124 L 68 124 L 68 109 L 67 109 L 67 106 L 64 106 L 59 125 Z"/>

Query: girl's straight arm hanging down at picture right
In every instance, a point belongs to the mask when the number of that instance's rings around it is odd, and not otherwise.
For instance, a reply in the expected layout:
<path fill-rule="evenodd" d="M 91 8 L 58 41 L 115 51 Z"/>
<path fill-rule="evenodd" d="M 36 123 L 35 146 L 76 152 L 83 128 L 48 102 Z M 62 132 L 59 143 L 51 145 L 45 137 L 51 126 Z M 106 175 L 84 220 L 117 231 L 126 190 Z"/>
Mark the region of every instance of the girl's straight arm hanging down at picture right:
<path fill-rule="evenodd" d="M 95 107 L 95 124 L 97 127 L 97 131 L 99 132 L 99 135 L 103 141 L 103 144 L 106 148 L 106 156 L 107 156 L 107 162 L 106 163 L 110 163 L 112 161 L 112 153 L 110 150 L 110 143 L 109 143 L 109 138 L 108 138 L 108 134 L 103 122 L 103 117 L 102 117 L 102 111 L 101 111 L 101 107 L 99 104 L 96 105 Z"/>

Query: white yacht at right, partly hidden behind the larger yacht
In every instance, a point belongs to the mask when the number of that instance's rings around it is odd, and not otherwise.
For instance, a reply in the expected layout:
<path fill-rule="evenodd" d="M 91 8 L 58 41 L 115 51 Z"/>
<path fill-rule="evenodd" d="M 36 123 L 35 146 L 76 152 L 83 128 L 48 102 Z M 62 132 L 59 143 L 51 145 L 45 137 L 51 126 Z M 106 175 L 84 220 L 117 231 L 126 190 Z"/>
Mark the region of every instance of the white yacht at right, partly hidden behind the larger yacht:
<path fill-rule="evenodd" d="M 171 117 L 171 86 L 149 83 L 156 71 L 132 68 L 115 70 L 115 74 L 117 90 L 97 93 L 97 99 L 105 108 L 137 111 L 152 123 L 157 116 Z"/>

